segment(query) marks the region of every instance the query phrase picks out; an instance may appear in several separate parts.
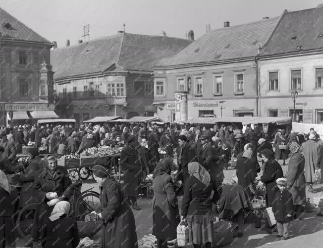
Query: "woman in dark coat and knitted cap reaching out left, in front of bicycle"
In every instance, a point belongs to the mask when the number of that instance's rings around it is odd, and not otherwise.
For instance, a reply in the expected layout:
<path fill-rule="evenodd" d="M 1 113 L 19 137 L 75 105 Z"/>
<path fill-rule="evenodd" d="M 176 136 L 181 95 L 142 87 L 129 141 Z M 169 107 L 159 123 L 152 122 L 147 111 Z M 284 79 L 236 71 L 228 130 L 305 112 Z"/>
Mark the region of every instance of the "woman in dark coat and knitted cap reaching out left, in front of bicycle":
<path fill-rule="evenodd" d="M 102 248 L 138 248 L 136 223 L 120 184 L 105 167 L 92 168 L 94 179 L 100 186 L 100 202 L 103 211 Z"/>

